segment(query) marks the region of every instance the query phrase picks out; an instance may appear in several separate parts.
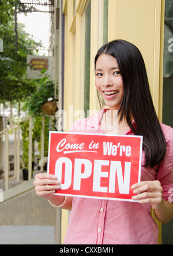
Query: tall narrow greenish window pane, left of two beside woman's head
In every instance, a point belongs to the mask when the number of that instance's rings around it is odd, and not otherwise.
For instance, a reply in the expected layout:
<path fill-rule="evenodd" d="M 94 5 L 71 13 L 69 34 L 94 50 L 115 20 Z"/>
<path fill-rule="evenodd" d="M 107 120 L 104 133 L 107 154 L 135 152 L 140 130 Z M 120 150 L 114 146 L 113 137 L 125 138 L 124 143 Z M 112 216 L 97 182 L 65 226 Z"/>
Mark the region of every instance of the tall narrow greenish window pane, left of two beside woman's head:
<path fill-rule="evenodd" d="M 89 110 L 90 80 L 90 40 L 91 38 L 91 2 L 85 12 L 85 77 L 84 77 L 84 111 Z"/>

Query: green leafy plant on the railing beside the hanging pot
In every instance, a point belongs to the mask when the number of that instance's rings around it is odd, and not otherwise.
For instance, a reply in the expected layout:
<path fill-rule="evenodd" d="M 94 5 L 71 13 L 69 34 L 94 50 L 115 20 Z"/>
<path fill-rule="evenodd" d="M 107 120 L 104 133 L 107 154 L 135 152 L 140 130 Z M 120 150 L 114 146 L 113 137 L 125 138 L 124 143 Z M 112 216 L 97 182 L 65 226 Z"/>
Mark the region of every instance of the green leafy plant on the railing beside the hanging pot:
<path fill-rule="evenodd" d="M 32 116 L 32 158 L 34 160 L 34 142 L 37 142 L 38 149 L 41 152 L 41 132 L 42 132 L 42 115 L 44 114 L 44 155 L 48 154 L 48 132 L 50 130 L 50 117 L 48 117 L 41 108 L 42 103 L 47 98 L 54 98 L 54 83 L 46 75 L 45 69 L 41 72 L 44 77 L 33 80 L 36 90 L 26 99 L 24 110 Z M 22 150 L 23 150 L 23 167 L 28 169 L 28 146 L 29 146 L 29 121 L 22 122 Z"/>

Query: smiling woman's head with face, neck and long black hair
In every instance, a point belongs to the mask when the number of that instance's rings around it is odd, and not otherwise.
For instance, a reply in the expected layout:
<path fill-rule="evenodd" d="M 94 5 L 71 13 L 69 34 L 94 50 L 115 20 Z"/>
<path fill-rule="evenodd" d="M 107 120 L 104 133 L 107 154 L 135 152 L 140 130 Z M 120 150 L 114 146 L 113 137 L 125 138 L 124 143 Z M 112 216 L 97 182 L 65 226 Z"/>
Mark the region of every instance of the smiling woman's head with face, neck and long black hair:
<path fill-rule="evenodd" d="M 153 106 L 140 50 L 126 40 L 114 40 L 104 44 L 97 51 L 95 70 L 99 70 L 95 80 L 97 91 L 110 110 L 118 110 L 119 123 L 122 122 L 123 127 L 127 124 L 134 134 L 144 137 L 145 165 L 153 168 L 164 158 L 166 141 Z M 115 71 L 118 71 L 118 75 Z M 106 95 L 104 91 L 118 92 Z"/>

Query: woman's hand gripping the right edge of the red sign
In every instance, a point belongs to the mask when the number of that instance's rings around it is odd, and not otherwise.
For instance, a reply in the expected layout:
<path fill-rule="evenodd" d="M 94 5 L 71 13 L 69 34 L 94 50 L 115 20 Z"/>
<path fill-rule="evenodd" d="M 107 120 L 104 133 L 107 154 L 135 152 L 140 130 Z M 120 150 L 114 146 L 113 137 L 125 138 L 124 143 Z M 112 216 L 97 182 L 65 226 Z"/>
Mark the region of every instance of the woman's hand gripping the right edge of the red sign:
<path fill-rule="evenodd" d="M 134 195 L 133 200 L 138 200 L 139 203 L 151 203 L 154 210 L 163 210 L 165 201 L 163 199 L 163 188 L 160 181 L 141 181 L 140 183 L 131 186 Z"/>

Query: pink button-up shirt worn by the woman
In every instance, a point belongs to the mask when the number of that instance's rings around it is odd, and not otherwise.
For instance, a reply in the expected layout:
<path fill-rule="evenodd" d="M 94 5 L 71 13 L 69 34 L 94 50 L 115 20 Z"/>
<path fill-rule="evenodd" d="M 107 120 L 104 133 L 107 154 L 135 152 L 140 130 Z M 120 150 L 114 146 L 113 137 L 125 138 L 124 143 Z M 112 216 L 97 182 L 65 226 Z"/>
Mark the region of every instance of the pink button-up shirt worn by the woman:
<path fill-rule="evenodd" d="M 74 123 L 72 132 L 103 133 L 100 120 L 104 110 Z M 173 129 L 161 124 L 167 154 L 161 164 L 145 168 L 142 152 L 141 181 L 159 180 L 163 198 L 173 189 Z M 133 135 L 129 129 L 126 135 Z M 149 203 L 74 197 L 64 244 L 157 244 L 158 229 Z"/>

